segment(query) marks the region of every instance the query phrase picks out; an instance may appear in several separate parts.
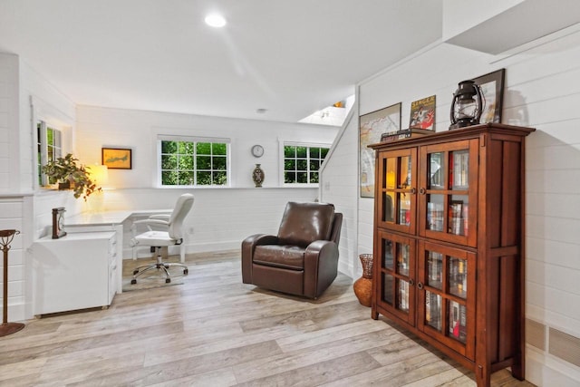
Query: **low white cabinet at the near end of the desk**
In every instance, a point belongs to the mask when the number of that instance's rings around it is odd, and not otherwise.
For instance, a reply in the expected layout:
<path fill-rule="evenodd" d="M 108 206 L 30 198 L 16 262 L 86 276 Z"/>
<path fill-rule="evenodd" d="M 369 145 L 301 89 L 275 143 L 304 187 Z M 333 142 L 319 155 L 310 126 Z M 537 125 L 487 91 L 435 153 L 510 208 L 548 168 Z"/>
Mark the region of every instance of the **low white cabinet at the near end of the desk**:
<path fill-rule="evenodd" d="M 117 292 L 116 233 L 44 237 L 33 249 L 34 314 L 111 305 Z"/>

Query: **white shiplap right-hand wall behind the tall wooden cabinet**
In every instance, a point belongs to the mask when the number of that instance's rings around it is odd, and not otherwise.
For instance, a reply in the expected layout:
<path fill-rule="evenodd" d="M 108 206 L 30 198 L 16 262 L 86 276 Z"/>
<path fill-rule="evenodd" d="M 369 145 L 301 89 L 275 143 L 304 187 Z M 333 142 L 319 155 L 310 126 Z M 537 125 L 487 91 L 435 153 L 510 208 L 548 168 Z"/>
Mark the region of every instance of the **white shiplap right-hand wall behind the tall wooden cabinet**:
<path fill-rule="evenodd" d="M 544 324 L 546 337 L 547 327 L 580 337 L 580 28 L 497 56 L 431 44 L 361 82 L 359 114 L 402 102 L 405 127 L 411 102 L 436 94 L 436 130 L 446 131 L 457 82 L 499 68 L 506 68 L 502 121 L 537 129 L 527 138 L 527 319 Z M 348 131 L 358 133 L 358 128 L 351 125 Z M 356 149 L 357 138 L 344 134 L 335 147 Z M 324 180 L 352 170 L 327 168 L 326 174 L 334 176 Z M 344 191 L 356 192 L 358 179 L 348 181 L 351 187 Z M 372 209 L 371 199 L 358 199 L 354 255 L 372 251 Z M 580 369 L 528 345 L 527 379 L 537 385 L 579 385 Z"/>

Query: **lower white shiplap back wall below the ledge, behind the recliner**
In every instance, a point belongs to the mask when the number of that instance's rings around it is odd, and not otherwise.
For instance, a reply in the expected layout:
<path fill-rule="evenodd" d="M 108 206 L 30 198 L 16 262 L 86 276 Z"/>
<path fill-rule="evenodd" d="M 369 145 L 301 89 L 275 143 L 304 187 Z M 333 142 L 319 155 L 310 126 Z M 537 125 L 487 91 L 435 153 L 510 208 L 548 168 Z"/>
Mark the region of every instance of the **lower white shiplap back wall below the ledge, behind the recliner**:
<path fill-rule="evenodd" d="M 114 189 L 104 192 L 108 210 L 173 208 L 182 193 L 195 197 L 184 221 L 186 253 L 237 249 L 253 234 L 275 235 L 288 201 L 314 201 L 318 189 Z M 131 257 L 131 221 L 125 225 L 123 257 Z M 139 256 L 150 256 L 149 248 Z"/>

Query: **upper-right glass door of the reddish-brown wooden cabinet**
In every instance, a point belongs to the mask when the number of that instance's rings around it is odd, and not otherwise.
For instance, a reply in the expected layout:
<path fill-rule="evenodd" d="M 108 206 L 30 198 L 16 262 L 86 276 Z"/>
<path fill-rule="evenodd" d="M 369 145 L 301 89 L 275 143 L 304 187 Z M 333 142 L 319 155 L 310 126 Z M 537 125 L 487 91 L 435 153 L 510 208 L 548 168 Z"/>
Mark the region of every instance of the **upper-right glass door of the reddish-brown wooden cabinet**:
<path fill-rule="evenodd" d="M 419 234 L 476 247 L 478 140 L 421 147 L 419 163 Z"/>

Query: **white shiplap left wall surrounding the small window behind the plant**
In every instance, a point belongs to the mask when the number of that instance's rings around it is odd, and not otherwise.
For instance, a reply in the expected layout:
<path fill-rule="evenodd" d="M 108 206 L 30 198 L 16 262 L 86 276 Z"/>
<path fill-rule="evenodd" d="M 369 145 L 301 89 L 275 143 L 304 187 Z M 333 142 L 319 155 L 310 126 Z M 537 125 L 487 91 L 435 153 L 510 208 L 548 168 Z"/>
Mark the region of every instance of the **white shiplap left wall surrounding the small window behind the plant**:
<path fill-rule="evenodd" d="M 0 228 L 16 228 L 8 258 L 8 318 L 30 317 L 29 249 L 50 225 L 50 207 L 34 199 L 34 128 L 31 101 L 43 106 L 43 119 L 74 121 L 74 105 L 17 55 L 0 53 Z M 42 201 L 42 200 L 41 200 Z M 51 203 L 52 204 L 52 203 Z M 50 205 L 50 204 L 49 204 Z M 42 214 L 42 216 L 40 216 Z M 0 295 L 2 297 L 3 295 Z"/>

